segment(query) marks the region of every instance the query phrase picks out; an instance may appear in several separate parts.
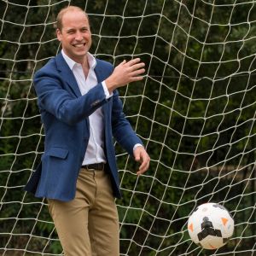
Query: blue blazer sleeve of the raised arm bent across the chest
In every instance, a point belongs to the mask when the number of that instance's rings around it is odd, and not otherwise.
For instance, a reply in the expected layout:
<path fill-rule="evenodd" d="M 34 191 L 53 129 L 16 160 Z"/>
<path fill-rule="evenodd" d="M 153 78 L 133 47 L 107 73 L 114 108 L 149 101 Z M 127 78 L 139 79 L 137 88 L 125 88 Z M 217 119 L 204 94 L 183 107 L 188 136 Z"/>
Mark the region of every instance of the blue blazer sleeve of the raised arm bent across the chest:
<path fill-rule="evenodd" d="M 70 71 L 70 76 L 73 73 Z M 67 77 L 67 74 L 65 74 Z M 75 81 L 75 79 L 73 78 Z M 63 74 L 54 65 L 39 70 L 34 76 L 34 88 L 38 96 L 38 107 L 42 112 L 48 112 L 68 125 L 78 123 L 88 117 L 96 108 L 108 102 L 102 83 L 96 84 L 84 96 L 77 96 L 70 84 L 67 84 Z M 74 82 L 76 83 L 76 82 Z M 77 86 L 77 84 L 73 84 Z"/>

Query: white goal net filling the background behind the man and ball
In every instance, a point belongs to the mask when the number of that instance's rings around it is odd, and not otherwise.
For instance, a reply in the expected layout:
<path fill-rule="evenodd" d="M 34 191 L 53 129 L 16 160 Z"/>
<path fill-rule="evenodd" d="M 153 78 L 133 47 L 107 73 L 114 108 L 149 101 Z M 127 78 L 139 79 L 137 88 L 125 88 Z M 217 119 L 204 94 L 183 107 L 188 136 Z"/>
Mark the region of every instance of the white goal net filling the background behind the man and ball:
<path fill-rule="evenodd" d="M 0 1 L 0 254 L 62 255 L 46 201 L 23 190 L 44 153 L 33 74 L 59 52 L 55 16 L 90 17 L 97 58 L 140 57 L 145 79 L 119 90 L 151 165 L 115 145 L 120 255 L 255 255 L 256 3 L 246 0 Z M 235 220 L 222 248 L 189 238 L 189 214 L 218 202 Z"/>

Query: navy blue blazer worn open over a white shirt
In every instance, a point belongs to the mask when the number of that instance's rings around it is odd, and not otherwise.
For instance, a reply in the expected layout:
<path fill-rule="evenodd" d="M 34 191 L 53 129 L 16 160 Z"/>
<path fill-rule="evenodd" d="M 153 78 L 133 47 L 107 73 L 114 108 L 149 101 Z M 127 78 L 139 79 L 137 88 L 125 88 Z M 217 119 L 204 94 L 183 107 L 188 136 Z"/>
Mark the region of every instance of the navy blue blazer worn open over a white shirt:
<path fill-rule="evenodd" d="M 79 85 L 61 53 L 51 59 L 34 76 L 38 108 L 44 123 L 44 154 L 26 191 L 36 197 L 71 201 L 75 196 L 77 177 L 90 137 L 89 116 L 96 108 L 104 113 L 105 154 L 112 179 L 113 196 L 120 198 L 118 168 L 113 137 L 133 156 L 133 147 L 142 143 L 125 119 L 117 90 L 108 100 L 102 81 L 113 72 L 107 61 L 96 59 L 98 84 L 81 96 Z"/>

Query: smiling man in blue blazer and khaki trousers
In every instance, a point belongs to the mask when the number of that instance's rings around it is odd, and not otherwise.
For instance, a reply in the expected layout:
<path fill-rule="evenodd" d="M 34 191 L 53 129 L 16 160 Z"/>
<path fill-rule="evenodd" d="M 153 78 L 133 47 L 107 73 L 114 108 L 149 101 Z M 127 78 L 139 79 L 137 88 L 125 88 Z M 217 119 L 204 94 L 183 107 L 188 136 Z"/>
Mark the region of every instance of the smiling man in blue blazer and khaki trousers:
<path fill-rule="evenodd" d="M 61 10 L 56 33 L 61 53 L 34 77 L 45 145 L 26 190 L 48 199 L 65 255 L 119 255 L 113 137 L 140 162 L 137 175 L 150 159 L 116 89 L 142 80 L 145 65 L 137 58 L 113 69 L 90 55 L 90 24 L 78 7 Z"/>

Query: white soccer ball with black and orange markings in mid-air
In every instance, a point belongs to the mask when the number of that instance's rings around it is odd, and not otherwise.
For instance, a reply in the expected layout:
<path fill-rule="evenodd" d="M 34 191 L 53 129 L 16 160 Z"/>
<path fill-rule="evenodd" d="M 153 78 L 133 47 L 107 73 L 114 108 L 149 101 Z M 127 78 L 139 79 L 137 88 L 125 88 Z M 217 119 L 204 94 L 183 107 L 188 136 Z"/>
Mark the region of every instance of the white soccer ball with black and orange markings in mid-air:
<path fill-rule="evenodd" d="M 206 203 L 189 216 L 188 230 L 191 240 L 197 245 L 214 250 L 229 241 L 234 231 L 234 220 L 225 207 Z"/>

